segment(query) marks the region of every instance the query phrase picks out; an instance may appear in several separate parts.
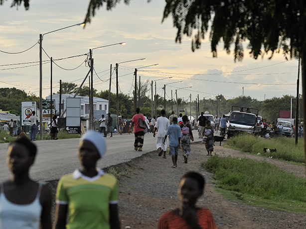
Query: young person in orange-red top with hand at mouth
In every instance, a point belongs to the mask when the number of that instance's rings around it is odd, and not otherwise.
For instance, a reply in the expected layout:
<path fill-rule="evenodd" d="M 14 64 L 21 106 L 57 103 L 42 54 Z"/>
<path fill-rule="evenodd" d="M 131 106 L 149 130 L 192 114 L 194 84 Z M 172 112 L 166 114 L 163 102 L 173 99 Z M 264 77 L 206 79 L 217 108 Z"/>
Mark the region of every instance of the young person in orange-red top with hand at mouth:
<path fill-rule="evenodd" d="M 185 173 L 179 183 L 177 209 L 161 215 L 157 229 L 217 229 L 211 212 L 196 207 L 197 200 L 203 195 L 204 177 L 197 172 Z"/>

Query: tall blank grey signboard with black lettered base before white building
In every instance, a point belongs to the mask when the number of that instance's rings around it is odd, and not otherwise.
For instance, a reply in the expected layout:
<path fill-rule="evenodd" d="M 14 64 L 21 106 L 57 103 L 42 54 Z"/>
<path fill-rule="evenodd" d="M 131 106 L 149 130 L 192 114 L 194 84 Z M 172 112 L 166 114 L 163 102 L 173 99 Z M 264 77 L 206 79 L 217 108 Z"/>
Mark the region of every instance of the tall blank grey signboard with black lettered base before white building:
<path fill-rule="evenodd" d="M 66 99 L 66 130 L 68 133 L 81 133 L 81 99 Z"/>

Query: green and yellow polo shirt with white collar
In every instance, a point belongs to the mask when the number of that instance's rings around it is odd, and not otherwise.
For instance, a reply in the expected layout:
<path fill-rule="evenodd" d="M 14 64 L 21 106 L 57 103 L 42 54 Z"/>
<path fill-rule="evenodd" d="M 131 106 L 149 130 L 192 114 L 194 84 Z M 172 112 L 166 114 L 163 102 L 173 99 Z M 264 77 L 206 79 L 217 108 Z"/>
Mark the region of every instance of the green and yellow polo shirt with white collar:
<path fill-rule="evenodd" d="M 76 170 L 59 180 L 56 203 L 68 205 L 67 229 L 110 229 L 109 205 L 118 203 L 117 179 L 103 170 L 93 178 Z"/>

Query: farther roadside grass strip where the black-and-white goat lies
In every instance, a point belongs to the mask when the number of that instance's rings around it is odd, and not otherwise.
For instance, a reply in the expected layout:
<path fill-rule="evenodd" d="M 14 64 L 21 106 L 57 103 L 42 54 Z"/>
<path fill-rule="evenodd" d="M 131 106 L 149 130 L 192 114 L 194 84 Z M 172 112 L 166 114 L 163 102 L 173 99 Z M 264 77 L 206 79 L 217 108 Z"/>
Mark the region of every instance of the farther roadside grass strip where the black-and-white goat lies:
<path fill-rule="evenodd" d="M 295 138 L 275 137 L 272 139 L 264 139 L 254 135 L 245 134 L 231 137 L 226 141 L 225 146 L 240 149 L 248 153 L 260 153 L 265 157 L 305 163 L 303 138 L 299 138 L 299 144 L 296 146 Z M 264 153 L 264 147 L 268 149 L 276 148 L 277 152 Z"/>

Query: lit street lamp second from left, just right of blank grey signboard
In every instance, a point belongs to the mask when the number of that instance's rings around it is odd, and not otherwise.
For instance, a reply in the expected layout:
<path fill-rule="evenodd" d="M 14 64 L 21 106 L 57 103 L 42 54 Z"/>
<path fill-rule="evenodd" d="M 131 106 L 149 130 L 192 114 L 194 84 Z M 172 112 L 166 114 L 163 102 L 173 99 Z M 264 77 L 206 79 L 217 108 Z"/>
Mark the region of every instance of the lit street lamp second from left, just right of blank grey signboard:
<path fill-rule="evenodd" d="M 90 77 L 90 95 L 89 95 L 89 129 L 95 129 L 94 128 L 94 59 L 92 58 L 92 51 L 97 48 L 105 48 L 108 46 L 113 46 L 113 45 L 125 45 L 126 42 L 120 42 L 120 43 L 115 43 L 115 44 L 109 44 L 109 45 L 103 45 L 100 47 L 95 47 L 92 49 L 89 49 L 89 55 L 90 55 L 90 72 L 91 72 L 91 77 Z M 110 108 L 109 108 L 110 109 Z"/>

